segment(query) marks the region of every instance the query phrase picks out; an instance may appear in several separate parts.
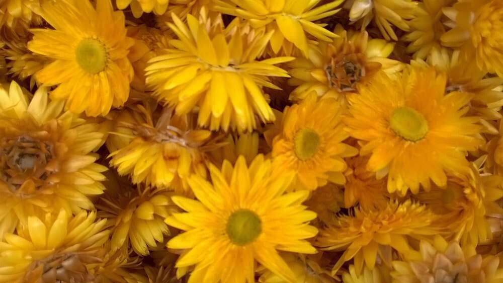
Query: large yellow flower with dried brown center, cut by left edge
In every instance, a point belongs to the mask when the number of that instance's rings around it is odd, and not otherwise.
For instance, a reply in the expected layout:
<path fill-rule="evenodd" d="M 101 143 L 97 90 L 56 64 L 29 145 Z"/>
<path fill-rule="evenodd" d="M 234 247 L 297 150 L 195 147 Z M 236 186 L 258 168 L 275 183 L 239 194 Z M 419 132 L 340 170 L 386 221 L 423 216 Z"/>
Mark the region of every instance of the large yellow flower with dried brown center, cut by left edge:
<path fill-rule="evenodd" d="M 106 171 L 91 153 L 104 142 L 99 124 L 62 113 L 45 88 L 28 103 L 15 82 L 8 87 L 0 88 L 0 239 L 32 214 L 93 209 Z"/>

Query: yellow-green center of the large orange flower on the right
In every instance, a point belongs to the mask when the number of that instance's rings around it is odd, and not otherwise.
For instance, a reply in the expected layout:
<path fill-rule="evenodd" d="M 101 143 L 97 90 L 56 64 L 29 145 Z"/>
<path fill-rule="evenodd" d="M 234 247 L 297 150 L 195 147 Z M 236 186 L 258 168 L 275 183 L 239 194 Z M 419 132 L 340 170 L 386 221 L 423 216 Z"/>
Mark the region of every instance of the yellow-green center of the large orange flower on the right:
<path fill-rule="evenodd" d="M 425 116 L 407 106 L 393 110 L 389 124 L 393 132 L 410 142 L 417 142 L 428 133 L 428 121 Z"/>

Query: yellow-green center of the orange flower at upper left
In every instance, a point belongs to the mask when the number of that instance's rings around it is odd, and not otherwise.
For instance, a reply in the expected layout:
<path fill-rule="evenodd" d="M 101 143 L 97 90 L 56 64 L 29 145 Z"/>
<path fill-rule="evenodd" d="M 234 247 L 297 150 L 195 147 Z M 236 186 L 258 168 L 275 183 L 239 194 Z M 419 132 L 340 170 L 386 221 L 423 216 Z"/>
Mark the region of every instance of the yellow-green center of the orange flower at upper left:
<path fill-rule="evenodd" d="M 86 38 L 78 43 L 75 59 L 83 70 L 89 74 L 97 74 L 107 66 L 107 49 L 99 40 Z"/>

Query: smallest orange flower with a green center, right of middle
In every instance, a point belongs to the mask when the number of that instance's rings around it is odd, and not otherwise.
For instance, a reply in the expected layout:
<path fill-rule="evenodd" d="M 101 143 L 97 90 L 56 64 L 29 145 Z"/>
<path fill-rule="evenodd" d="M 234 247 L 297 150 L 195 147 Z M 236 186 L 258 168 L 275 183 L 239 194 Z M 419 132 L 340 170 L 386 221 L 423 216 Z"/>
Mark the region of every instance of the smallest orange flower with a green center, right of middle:
<path fill-rule="evenodd" d="M 275 166 L 293 171 L 295 189 L 314 190 L 328 181 L 344 184 L 344 157 L 358 151 L 343 143 L 348 137 L 342 123 L 343 108 L 334 99 L 316 101 L 311 94 L 284 111 L 281 132 L 273 139 Z"/>

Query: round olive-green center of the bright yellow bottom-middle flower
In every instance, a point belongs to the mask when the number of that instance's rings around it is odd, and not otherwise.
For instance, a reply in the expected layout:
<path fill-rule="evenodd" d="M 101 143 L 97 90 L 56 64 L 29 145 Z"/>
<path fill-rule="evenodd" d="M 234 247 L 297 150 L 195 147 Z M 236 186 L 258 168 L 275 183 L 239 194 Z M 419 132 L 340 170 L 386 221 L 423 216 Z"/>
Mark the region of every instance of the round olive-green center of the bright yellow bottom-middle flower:
<path fill-rule="evenodd" d="M 248 209 L 235 211 L 227 221 L 227 236 L 238 246 L 249 244 L 262 232 L 262 221 L 259 216 Z"/>

